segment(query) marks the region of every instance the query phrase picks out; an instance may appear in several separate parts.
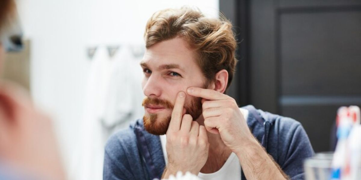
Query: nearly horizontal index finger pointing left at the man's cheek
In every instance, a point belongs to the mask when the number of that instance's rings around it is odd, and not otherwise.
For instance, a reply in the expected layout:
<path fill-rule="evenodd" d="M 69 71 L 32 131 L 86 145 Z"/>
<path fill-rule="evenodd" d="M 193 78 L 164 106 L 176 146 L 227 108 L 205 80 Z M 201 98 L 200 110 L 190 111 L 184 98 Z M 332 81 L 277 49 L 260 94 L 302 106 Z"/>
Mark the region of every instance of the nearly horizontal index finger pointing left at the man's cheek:
<path fill-rule="evenodd" d="M 203 89 L 199 87 L 189 87 L 187 93 L 192 96 L 208 99 L 208 100 L 224 100 L 229 99 L 229 96 L 219 93 L 213 89 Z"/>

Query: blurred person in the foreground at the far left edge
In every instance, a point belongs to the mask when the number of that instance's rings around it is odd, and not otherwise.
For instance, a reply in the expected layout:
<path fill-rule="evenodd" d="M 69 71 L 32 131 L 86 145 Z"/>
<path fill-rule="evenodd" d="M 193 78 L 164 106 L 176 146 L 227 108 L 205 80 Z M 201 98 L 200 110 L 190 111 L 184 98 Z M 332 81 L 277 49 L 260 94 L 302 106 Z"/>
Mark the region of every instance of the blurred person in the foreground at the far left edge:
<path fill-rule="evenodd" d="M 11 26 L 13 0 L 0 0 L 0 69 L 9 42 L 21 44 Z M 49 118 L 34 107 L 25 90 L 0 81 L 0 179 L 65 179 Z"/>

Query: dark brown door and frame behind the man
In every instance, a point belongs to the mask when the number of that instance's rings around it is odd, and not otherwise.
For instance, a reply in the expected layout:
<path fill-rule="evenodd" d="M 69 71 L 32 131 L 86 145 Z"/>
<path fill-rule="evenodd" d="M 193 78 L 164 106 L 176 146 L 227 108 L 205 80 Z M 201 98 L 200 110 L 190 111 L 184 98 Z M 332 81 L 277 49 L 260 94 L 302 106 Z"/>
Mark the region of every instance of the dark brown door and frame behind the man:
<path fill-rule="evenodd" d="M 247 12 L 228 14 L 246 31 L 248 73 L 238 77 L 248 88 L 235 87 L 256 108 L 300 121 L 316 152 L 329 150 L 338 107 L 361 106 L 361 1 L 221 0 L 223 12 L 230 2 Z"/>

